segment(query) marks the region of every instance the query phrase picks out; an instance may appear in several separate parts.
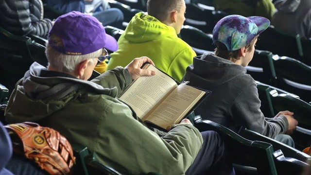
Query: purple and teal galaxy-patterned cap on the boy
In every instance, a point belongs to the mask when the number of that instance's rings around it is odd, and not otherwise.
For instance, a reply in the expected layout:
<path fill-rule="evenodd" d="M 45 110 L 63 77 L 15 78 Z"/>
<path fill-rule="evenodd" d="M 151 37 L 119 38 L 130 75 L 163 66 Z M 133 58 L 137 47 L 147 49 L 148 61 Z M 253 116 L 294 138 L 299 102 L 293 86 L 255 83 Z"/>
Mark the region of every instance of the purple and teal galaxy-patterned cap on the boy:
<path fill-rule="evenodd" d="M 213 42 L 225 44 L 228 51 L 235 51 L 249 44 L 256 35 L 261 34 L 270 25 L 263 17 L 243 17 L 229 15 L 217 22 L 213 30 Z"/>

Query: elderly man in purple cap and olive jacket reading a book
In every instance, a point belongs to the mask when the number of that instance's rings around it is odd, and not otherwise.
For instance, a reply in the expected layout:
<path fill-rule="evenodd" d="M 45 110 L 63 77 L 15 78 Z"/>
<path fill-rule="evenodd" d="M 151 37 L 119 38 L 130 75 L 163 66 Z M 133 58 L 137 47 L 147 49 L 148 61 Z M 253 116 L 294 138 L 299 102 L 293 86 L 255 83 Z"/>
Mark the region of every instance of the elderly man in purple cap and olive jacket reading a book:
<path fill-rule="evenodd" d="M 155 74 L 140 69 L 146 61 L 154 64 L 149 58 L 135 58 L 125 68 L 86 81 L 105 59 L 105 49 L 116 51 L 118 45 L 96 18 L 80 12 L 57 18 L 47 43 L 49 66 L 34 63 L 17 82 L 6 120 L 34 121 L 58 130 L 122 174 L 182 175 L 187 169 L 191 175 L 234 174 L 217 133 L 200 133 L 184 119 L 160 137 L 117 98 L 132 80 Z"/>

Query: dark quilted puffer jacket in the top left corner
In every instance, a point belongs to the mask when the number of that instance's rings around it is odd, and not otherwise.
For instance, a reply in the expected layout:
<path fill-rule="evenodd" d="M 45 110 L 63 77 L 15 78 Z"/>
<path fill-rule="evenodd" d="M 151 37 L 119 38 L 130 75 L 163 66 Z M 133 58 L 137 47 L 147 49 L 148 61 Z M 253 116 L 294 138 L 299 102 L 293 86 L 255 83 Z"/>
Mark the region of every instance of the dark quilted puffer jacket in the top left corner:
<path fill-rule="evenodd" d="M 0 0 L 0 26 L 15 35 L 45 36 L 52 21 L 43 18 L 41 0 Z"/>

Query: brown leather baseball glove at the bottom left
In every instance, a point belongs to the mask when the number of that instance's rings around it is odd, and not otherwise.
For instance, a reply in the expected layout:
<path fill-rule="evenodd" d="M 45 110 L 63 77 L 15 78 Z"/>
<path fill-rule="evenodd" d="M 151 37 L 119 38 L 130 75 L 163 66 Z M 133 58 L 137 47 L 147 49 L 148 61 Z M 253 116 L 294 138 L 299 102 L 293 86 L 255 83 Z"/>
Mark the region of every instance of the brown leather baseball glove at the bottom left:
<path fill-rule="evenodd" d="M 14 152 L 34 160 L 51 175 L 67 175 L 75 163 L 68 140 L 49 127 L 25 122 L 5 126 L 10 133 Z"/>

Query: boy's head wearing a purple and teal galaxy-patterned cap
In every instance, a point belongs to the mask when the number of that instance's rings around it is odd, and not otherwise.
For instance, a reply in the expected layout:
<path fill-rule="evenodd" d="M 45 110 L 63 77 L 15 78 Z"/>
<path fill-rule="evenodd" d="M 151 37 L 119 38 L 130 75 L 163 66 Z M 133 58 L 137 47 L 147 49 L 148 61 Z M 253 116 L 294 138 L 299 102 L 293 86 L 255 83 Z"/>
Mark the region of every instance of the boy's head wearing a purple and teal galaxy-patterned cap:
<path fill-rule="evenodd" d="M 229 15 L 214 27 L 215 55 L 246 67 L 252 60 L 259 34 L 266 30 L 270 21 L 263 17 Z"/>

